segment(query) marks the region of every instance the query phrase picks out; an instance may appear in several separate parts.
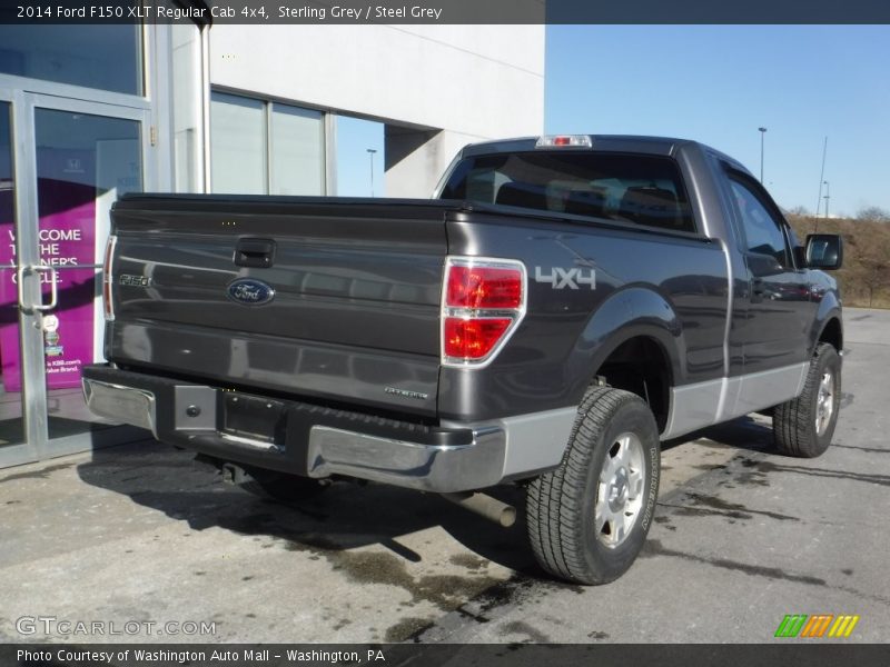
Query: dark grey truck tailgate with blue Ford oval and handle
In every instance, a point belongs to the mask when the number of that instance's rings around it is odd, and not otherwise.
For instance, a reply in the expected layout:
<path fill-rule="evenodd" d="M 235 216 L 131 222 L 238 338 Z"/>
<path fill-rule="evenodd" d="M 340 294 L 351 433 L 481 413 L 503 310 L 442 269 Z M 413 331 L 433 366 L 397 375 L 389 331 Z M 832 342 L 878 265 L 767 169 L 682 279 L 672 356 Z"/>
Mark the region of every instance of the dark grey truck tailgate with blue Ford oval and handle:
<path fill-rule="evenodd" d="M 434 416 L 447 208 L 127 197 L 112 211 L 106 356 L 221 386 Z"/>

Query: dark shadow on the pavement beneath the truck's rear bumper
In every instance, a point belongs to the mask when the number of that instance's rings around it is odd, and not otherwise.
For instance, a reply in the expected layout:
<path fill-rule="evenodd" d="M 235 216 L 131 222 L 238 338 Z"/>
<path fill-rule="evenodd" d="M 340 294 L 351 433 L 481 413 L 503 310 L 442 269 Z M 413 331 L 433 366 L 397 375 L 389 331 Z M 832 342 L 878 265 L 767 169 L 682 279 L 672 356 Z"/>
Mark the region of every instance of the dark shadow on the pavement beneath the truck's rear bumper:
<path fill-rule="evenodd" d="M 192 455 L 155 441 L 97 450 L 78 467 L 95 487 L 129 496 L 134 502 L 185 521 L 194 530 L 224 528 L 248 537 L 257 548 L 307 551 L 343 565 L 339 554 L 380 545 L 404 564 L 441 558 L 435 537 L 404 536 L 439 527 L 472 554 L 455 549 L 453 565 L 471 570 L 487 561 L 514 571 L 540 574 L 525 538 L 524 492 L 498 488 L 492 494 L 514 505 L 518 517 L 502 528 L 435 494 L 384 485 L 336 482 L 318 497 L 294 504 L 261 498 L 228 485 Z M 417 547 L 418 541 L 422 545 Z"/>

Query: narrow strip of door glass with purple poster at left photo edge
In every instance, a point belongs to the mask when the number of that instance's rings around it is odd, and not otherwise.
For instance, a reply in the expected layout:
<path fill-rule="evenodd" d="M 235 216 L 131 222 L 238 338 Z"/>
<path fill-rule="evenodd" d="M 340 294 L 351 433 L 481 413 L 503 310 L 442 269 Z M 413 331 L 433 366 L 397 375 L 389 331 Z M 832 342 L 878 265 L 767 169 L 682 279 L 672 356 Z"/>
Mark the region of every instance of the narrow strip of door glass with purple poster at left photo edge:
<path fill-rule="evenodd" d="M 16 261 L 16 202 L 12 175 L 12 132 L 10 106 L 0 102 L 0 265 L 10 267 Z M 12 360 L 19 354 L 19 308 L 16 295 L 14 269 L 0 269 L 0 448 L 24 441 L 21 410 L 21 375 Z"/>

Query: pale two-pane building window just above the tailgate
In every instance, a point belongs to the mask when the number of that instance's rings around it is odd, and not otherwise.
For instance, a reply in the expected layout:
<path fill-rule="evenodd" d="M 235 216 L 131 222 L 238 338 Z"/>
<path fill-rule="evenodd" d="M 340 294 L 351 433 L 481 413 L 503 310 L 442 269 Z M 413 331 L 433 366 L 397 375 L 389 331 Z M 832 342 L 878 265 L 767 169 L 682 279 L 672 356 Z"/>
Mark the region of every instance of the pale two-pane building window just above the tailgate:
<path fill-rule="evenodd" d="M 214 92 L 210 115 L 214 192 L 325 193 L 323 113 Z"/>

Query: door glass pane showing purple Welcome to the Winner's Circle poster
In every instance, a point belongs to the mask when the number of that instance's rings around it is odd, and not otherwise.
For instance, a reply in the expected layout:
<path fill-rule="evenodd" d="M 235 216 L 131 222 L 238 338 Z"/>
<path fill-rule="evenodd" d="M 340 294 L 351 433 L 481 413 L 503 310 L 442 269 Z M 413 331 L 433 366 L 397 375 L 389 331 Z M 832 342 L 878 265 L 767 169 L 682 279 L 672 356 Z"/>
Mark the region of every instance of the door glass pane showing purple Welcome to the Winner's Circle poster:
<path fill-rule="evenodd" d="M 58 289 L 41 331 L 52 438 L 92 420 L 80 369 L 101 360 L 101 282 L 93 265 L 101 261 L 111 203 L 141 189 L 142 169 L 137 121 L 37 109 L 34 127 L 40 261 L 56 269 Z M 50 286 L 43 290 L 48 302 Z"/>

